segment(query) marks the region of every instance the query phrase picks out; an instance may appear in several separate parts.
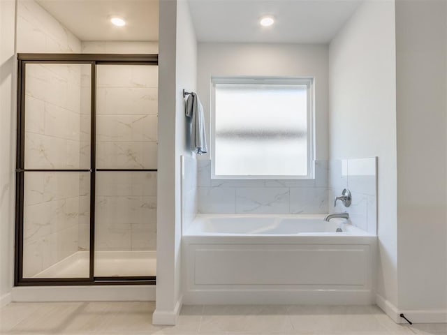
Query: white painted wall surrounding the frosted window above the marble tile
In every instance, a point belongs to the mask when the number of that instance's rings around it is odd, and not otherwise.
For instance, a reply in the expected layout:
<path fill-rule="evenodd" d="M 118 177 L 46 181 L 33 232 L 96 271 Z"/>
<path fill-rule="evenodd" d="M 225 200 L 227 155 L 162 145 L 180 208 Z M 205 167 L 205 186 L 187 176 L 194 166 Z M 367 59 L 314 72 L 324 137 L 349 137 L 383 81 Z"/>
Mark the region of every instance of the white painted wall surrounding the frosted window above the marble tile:
<path fill-rule="evenodd" d="M 272 75 L 315 77 L 316 160 L 328 159 L 328 46 L 199 43 L 198 94 L 210 143 L 211 76 Z M 201 158 L 209 158 L 204 155 Z"/>

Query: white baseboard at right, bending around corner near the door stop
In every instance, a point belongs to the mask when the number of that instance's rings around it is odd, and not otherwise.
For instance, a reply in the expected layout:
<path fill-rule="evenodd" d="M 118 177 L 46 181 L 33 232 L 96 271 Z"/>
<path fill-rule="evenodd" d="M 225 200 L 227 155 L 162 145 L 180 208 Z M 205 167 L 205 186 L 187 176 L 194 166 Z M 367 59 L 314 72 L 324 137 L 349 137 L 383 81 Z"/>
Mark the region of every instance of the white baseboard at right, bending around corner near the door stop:
<path fill-rule="evenodd" d="M 447 310 L 433 309 L 433 310 L 399 310 L 390 301 L 384 299 L 381 295 L 376 295 L 376 304 L 396 323 L 406 323 L 400 317 L 404 314 L 405 318 L 413 323 L 446 323 Z"/>

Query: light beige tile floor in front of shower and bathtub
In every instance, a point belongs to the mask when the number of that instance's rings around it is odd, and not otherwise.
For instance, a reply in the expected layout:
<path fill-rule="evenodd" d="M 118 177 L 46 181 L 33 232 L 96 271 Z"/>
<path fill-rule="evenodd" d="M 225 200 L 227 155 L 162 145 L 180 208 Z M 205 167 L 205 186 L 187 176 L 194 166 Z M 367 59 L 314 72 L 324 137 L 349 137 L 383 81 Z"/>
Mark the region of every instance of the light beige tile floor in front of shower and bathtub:
<path fill-rule="evenodd" d="M 176 326 L 152 325 L 154 302 L 13 303 L 0 334 L 447 335 L 447 324 L 395 325 L 376 306 L 184 306 Z"/>

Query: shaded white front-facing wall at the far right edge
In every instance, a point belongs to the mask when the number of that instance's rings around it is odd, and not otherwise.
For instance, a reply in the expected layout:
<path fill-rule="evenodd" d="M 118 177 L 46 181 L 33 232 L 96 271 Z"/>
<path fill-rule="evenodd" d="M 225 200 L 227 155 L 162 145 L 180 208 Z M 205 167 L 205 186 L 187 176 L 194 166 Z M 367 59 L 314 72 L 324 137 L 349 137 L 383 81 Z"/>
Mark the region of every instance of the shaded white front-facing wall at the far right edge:
<path fill-rule="evenodd" d="M 447 322 L 446 7 L 396 1 L 398 298 L 415 322 Z"/>

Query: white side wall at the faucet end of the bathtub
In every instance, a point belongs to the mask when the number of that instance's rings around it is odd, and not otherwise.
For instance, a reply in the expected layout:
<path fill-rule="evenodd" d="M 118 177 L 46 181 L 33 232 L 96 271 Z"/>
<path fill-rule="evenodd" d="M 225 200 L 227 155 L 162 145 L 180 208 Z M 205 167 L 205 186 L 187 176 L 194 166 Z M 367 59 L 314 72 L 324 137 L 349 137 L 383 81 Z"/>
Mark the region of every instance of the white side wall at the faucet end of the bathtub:
<path fill-rule="evenodd" d="M 397 304 L 394 1 L 367 1 L 330 43 L 331 159 L 378 156 L 378 292 Z"/>

